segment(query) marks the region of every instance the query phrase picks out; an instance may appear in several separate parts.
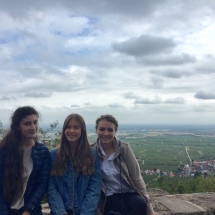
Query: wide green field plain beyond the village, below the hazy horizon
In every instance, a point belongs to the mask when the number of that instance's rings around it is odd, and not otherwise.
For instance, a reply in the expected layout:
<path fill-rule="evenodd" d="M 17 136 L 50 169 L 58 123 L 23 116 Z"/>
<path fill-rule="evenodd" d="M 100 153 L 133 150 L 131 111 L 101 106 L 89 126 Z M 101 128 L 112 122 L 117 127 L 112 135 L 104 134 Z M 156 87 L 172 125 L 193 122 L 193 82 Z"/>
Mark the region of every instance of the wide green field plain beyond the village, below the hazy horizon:
<path fill-rule="evenodd" d="M 145 133 L 132 132 L 118 134 L 118 139 L 129 142 L 139 161 L 140 168 L 175 171 L 180 164 L 190 164 L 185 146 L 193 160 L 213 159 L 215 157 L 215 137 L 195 135 L 146 136 Z M 90 136 L 90 142 L 95 141 Z M 145 177 L 145 176 L 144 176 Z"/>

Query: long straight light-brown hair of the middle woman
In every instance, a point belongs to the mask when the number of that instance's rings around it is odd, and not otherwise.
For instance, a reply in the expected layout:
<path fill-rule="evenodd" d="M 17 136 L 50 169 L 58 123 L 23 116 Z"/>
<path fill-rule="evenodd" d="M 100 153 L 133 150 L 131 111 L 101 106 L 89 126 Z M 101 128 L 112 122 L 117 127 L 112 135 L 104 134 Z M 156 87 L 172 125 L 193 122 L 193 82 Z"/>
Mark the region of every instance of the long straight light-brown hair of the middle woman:
<path fill-rule="evenodd" d="M 81 125 L 81 137 L 78 141 L 74 157 L 71 157 L 69 142 L 65 137 L 67 124 L 71 119 L 76 120 Z M 76 113 L 70 114 L 64 121 L 57 157 L 51 174 L 63 176 L 68 168 L 70 158 L 72 159 L 73 169 L 76 172 L 81 172 L 83 175 L 91 175 L 94 173 L 94 158 L 87 139 L 86 124 L 82 116 Z"/>

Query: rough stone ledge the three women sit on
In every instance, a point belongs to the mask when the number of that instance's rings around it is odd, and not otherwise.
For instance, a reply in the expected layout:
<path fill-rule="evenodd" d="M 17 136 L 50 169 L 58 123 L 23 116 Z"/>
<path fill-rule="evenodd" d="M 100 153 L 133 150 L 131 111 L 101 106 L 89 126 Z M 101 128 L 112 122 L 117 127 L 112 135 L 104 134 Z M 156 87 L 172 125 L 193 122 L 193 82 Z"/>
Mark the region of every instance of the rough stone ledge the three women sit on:
<path fill-rule="evenodd" d="M 160 189 L 148 189 L 148 193 L 158 215 L 215 215 L 215 193 L 169 195 Z M 43 215 L 48 215 L 48 204 L 42 207 Z"/>

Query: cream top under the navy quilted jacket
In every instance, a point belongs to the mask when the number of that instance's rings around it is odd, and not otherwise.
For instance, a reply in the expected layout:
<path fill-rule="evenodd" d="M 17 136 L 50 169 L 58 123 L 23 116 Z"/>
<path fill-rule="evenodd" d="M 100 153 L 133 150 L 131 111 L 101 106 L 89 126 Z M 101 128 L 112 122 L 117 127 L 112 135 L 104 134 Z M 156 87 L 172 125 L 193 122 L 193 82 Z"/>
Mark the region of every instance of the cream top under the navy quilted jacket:
<path fill-rule="evenodd" d="M 23 193 L 19 199 L 13 200 L 13 202 L 12 202 L 12 205 L 10 208 L 15 209 L 15 210 L 18 210 L 24 206 L 24 193 L 25 193 L 25 190 L 27 187 L 28 179 L 29 179 L 30 174 L 33 170 L 33 160 L 31 157 L 32 147 L 23 148 L 22 150 L 23 150 L 23 166 L 24 166 Z"/>

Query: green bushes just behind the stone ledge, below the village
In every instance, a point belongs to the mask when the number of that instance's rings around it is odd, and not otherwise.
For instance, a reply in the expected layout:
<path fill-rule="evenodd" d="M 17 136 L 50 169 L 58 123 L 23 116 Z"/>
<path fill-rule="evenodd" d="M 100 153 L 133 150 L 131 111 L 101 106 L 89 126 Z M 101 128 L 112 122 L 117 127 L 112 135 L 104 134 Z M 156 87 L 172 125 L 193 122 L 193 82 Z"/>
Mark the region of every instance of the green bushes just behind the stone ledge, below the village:
<path fill-rule="evenodd" d="M 149 183 L 148 187 L 160 188 L 170 194 L 215 192 L 215 176 L 194 179 L 159 177 Z"/>

